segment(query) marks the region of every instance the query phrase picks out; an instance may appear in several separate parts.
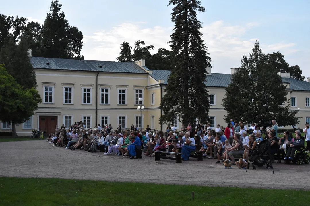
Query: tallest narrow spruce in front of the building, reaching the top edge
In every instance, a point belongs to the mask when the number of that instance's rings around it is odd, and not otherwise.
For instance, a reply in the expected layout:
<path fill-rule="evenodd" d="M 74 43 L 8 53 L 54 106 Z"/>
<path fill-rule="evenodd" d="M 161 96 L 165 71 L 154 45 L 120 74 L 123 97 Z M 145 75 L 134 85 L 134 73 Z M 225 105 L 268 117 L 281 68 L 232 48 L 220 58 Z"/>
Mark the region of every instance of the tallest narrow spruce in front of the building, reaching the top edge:
<path fill-rule="evenodd" d="M 205 8 L 196 0 L 170 0 L 169 5 L 174 6 L 171 15 L 175 27 L 170 41 L 173 67 L 160 105 L 164 112 L 160 124 L 171 123 L 175 116 L 184 124 L 194 124 L 196 119 L 206 123 L 210 108 L 206 68 L 211 67 L 211 59 L 196 13 Z"/>

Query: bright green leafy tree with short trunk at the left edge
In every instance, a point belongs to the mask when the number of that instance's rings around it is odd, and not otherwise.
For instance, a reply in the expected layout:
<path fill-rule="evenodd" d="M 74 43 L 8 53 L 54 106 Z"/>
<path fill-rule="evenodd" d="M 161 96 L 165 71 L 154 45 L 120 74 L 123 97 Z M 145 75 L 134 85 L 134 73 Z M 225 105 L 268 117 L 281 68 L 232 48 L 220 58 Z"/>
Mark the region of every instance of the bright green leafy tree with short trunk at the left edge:
<path fill-rule="evenodd" d="M 29 120 L 41 102 L 38 90 L 24 89 L 0 65 L 0 120 L 12 123 L 13 137 L 16 137 L 16 124 Z"/>

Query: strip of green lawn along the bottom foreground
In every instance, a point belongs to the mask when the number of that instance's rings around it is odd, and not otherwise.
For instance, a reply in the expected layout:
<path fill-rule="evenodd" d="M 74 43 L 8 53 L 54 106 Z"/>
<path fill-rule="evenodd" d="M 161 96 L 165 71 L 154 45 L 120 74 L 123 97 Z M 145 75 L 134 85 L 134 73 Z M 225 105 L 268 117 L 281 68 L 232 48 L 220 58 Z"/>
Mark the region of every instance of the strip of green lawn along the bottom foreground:
<path fill-rule="evenodd" d="M 192 199 L 194 191 L 194 200 Z M 310 191 L 0 178 L 0 205 L 308 205 Z"/>

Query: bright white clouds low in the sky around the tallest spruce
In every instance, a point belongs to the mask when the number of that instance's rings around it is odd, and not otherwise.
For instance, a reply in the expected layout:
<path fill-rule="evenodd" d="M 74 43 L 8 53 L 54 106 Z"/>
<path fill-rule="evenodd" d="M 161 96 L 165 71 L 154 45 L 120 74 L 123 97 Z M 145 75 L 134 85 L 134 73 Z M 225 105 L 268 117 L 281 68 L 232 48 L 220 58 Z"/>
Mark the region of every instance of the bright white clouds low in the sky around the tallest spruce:
<path fill-rule="evenodd" d="M 258 23 L 244 25 L 230 25 L 224 21 L 215 21 L 203 25 L 203 40 L 208 46 L 208 52 L 212 59 L 213 69 L 222 73 L 230 73 L 231 67 L 240 65 L 242 54 L 249 54 L 256 38 L 246 39 L 246 33 L 259 26 Z M 172 28 L 160 26 L 147 27 L 145 22 L 124 22 L 112 27 L 110 30 L 100 30 L 91 36 L 84 36 L 82 54 L 85 59 L 116 61 L 120 53 L 120 44 L 127 41 L 132 47 L 136 40 L 143 40 L 146 45 L 155 46 L 152 53 L 159 48 L 170 49 L 167 42 L 170 41 Z M 297 50 L 294 43 L 284 41 L 275 44 L 260 42 L 264 53 L 280 51 L 283 54 L 292 54 Z"/>

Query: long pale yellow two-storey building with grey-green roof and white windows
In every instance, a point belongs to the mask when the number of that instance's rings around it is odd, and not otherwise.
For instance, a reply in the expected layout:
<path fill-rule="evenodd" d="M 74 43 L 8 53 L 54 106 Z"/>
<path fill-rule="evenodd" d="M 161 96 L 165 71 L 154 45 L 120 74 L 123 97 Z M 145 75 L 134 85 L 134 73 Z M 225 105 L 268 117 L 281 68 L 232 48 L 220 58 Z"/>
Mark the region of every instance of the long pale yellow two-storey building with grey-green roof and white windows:
<path fill-rule="evenodd" d="M 38 91 L 42 103 L 29 121 L 16 126 L 17 135 L 31 135 L 31 128 L 52 133 L 55 126 L 66 128 L 75 122 L 84 122 L 86 128 L 97 124 L 111 124 L 117 128 L 131 128 L 131 125 L 166 130 L 160 125 L 162 111 L 159 107 L 165 94 L 170 71 L 149 70 L 145 61 L 115 62 L 55 59 L 31 57 L 37 77 Z M 222 99 L 231 74 L 211 73 L 207 68 L 206 85 L 210 95 L 211 126 L 226 126 Z M 236 68 L 232 68 L 232 74 Z M 282 81 L 287 85 L 291 98 L 291 109 L 300 108 L 303 117 L 300 127 L 310 122 L 310 83 L 289 77 L 283 73 Z M 143 98 L 142 125 L 139 98 Z M 178 118 L 173 122 L 181 128 Z M 298 125 L 296 125 L 296 128 Z M 11 131 L 12 125 L 2 122 L 1 132 Z M 287 126 L 286 128 L 291 128 Z"/>

